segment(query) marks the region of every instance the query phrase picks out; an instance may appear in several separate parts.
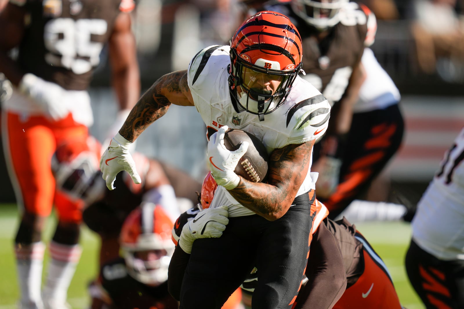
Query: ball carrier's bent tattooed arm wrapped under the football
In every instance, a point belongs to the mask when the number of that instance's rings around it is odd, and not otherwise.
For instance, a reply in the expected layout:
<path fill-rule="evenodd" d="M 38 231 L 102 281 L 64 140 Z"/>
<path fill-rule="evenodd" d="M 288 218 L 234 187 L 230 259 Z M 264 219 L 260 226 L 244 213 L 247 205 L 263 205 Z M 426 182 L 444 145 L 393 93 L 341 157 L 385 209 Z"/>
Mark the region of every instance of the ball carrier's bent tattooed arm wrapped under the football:
<path fill-rule="evenodd" d="M 242 177 L 229 193 L 243 206 L 274 221 L 290 208 L 309 171 L 314 140 L 290 144 L 272 151 L 267 183 L 252 183 Z"/>

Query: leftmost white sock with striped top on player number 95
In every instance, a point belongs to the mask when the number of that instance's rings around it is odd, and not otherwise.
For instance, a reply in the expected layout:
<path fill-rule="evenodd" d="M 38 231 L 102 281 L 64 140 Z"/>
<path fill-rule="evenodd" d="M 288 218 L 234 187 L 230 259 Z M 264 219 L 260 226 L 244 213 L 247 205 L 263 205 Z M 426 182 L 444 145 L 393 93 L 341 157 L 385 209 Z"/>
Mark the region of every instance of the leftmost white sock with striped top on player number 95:
<path fill-rule="evenodd" d="M 15 245 L 16 268 L 20 293 L 20 308 L 43 309 L 40 288 L 45 244 L 41 241 L 29 246 Z"/>

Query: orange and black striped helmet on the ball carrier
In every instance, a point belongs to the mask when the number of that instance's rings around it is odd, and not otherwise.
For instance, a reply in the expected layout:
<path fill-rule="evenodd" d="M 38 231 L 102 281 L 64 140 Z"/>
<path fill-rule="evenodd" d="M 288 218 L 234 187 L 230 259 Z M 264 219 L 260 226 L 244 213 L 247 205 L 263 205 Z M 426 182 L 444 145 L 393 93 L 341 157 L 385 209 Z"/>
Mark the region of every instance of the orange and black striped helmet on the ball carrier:
<path fill-rule="evenodd" d="M 230 56 L 232 101 L 264 120 L 284 103 L 301 69 L 301 36 L 287 16 L 258 12 L 238 27 Z M 263 86 L 270 80 L 278 86 Z"/>

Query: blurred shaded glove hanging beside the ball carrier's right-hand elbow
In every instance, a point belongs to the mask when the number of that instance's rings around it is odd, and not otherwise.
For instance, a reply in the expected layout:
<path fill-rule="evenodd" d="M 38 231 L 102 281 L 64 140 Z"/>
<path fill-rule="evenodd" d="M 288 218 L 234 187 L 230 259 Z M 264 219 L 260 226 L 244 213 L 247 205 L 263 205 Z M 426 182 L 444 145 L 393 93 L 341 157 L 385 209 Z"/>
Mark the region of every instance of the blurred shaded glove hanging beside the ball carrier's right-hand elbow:
<path fill-rule="evenodd" d="M 342 161 L 324 156 L 317 160 L 316 165 L 315 170 L 319 172 L 316 182 L 316 196 L 323 199 L 329 198 L 337 189 Z"/>

